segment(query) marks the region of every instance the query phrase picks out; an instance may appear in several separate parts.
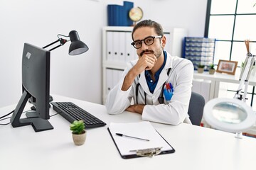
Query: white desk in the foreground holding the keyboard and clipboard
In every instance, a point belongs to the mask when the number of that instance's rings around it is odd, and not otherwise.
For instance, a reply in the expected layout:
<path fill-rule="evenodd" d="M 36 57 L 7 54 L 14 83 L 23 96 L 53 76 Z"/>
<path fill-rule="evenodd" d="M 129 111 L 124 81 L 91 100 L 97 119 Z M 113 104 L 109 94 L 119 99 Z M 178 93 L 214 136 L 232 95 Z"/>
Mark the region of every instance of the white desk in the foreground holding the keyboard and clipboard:
<path fill-rule="evenodd" d="M 70 123 L 50 118 L 54 130 L 34 132 L 31 126 L 0 125 L 0 169 L 255 169 L 256 139 L 182 123 L 154 128 L 176 149 L 153 158 L 122 159 L 110 137 L 110 122 L 142 121 L 137 113 L 107 115 L 105 106 L 53 95 L 54 101 L 73 101 L 107 123 L 87 130 L 85 145 L 75 146 Z M 15 106 L 0 108 L 5 115 Z M 50 108 L 50 113 L 55 113 Z M 4 123 L 1 121 L 1 123 Z"/>

